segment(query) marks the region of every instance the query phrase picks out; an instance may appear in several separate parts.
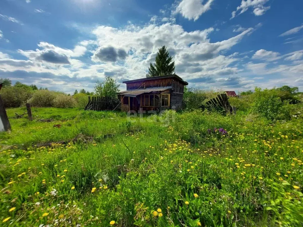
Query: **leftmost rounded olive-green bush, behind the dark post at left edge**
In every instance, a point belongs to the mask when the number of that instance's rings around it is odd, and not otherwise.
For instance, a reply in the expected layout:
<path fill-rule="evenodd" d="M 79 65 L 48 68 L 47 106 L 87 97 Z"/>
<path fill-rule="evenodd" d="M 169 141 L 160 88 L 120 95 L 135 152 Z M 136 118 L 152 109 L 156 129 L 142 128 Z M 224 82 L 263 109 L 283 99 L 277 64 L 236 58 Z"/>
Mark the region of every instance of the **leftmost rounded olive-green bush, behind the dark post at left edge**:
<path fill-rule="evenodd" d="M 3 87 L 0 91 L 5 107 L 20 107 L 32 97 L 32 93 L 32 90 L 14 86 Z"/>

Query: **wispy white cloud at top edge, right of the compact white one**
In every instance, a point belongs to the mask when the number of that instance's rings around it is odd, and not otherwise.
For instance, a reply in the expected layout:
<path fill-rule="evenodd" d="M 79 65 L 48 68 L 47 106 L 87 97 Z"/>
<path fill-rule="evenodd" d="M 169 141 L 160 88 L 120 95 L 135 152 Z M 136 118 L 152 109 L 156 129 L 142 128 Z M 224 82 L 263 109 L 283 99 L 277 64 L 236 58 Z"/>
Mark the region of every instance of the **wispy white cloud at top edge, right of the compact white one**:
<path fill-rule="evenodd" d="M 263 15 L 267 10 L 270 9 L 270 6 L 264 6 L 269 0 L 242 0 L 241 5 L 237 7 L 235 11 L 231 13 L 231 19 L 235 18 L 236 13 L 240 11 L 240 14 L 246 12 L 248 8 L 253 8 L 253 12 L 255 16 L 261 16 Z"/>

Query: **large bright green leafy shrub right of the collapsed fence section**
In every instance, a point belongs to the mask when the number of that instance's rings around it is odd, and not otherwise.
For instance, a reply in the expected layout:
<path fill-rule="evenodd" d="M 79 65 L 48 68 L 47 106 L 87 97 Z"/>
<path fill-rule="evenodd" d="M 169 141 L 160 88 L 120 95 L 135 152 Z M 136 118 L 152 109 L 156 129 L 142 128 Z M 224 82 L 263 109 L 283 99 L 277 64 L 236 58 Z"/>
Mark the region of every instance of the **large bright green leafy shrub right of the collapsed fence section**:
<path fill-rule="evenodd" d="M 286 120 L 290 118 L 288 102 L 282 101 L 275 90 L 261 90 L 256 87 L 252 111 L 269 120 Z"/>

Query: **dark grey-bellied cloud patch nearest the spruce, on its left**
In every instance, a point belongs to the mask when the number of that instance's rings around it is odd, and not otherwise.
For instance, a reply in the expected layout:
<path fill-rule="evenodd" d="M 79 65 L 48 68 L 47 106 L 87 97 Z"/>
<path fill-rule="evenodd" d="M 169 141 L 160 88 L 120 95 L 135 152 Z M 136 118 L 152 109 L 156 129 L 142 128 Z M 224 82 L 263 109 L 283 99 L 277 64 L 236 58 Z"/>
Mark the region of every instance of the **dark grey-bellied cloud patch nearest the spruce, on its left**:
<path fill-rule="evenodd" d="M 123 49 L 116 50 L 114 47 L 99 47 L 92 56 L 93 61 L 111 61 L 125 60 L 127 53 Z"/>

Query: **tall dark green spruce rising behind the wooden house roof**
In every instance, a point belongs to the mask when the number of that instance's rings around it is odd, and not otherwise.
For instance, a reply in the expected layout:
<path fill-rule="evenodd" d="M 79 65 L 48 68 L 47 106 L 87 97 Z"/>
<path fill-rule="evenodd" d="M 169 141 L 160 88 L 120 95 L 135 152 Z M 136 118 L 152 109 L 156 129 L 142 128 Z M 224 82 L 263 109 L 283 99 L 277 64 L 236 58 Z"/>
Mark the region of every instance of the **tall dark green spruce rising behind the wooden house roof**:
<path fill-rule="evenodd" d="M 149 64 L 148 73 L 146 77 L 156 77 L 163 75 L 170 75 L 175 73 L 175 61 L 172 61 L 172 57 L 169 56 L 169 52 L 166 50 L 166 46 L 162 46 L 158 49 L 156 55 L 156 63 Z"/>

